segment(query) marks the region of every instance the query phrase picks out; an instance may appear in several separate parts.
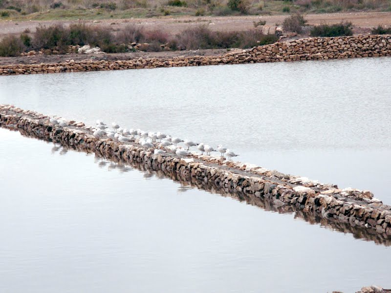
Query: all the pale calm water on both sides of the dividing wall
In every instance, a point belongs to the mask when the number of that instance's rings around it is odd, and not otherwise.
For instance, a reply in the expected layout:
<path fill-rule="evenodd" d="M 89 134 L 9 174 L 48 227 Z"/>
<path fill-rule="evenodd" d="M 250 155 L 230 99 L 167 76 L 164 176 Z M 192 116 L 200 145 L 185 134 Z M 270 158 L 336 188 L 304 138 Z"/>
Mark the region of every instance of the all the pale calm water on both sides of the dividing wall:
<path fill-rule="evenodd" d="M 15 76 L 0 103 L 222 143 L 391 203 L 389 76 L 390 58 Z M 0 141 L 0 292 L 391 287 L 390 247 L 1 128 Z"/>

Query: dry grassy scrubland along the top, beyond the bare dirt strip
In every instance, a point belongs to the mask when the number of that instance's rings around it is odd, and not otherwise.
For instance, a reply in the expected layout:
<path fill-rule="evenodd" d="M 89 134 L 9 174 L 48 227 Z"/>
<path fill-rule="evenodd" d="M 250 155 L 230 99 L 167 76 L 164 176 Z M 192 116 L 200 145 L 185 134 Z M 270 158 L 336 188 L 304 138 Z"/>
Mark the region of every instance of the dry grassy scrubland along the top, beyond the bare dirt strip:
<path fill-rule="evenodd" d="M 0 0 L 0 19 L 124 19 L 183 15 L 240 15 L 391 11 L 391 0 Z"/>

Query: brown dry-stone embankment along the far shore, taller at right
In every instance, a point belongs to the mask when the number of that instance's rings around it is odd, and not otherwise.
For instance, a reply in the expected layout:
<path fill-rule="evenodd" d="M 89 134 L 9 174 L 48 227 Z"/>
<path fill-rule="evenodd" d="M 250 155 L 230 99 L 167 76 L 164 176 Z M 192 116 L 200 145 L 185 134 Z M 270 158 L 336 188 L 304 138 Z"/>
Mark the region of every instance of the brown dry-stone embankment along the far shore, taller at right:
<path fill-rule="evenodd" d="M 270 29 L 270 28 L 269 28 Z M 268 31 L 269 31 L 268 29 Z M 54 64 L 0 65 L 0 75 L 122 70 L 237 63 L 264 63 L 297 60 L 326 60 L 391 56 L 391 35 L 306 38 L 277 42 L 221 56 L 139 58 L 126 61 L 91 61 Z"/>

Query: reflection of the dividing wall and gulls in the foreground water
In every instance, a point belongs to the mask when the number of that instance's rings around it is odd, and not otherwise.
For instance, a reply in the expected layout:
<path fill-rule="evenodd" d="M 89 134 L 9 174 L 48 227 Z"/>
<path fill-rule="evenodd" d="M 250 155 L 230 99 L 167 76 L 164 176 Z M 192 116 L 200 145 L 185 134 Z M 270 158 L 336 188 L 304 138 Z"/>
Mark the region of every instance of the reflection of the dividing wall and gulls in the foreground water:
<path fill-rule="evenodd" d="M 35 137 L 38 138 L 39 140 L 43 140 L 42 138 L 36 137 L 35 135 L 26 133 L 22 129 L 19 130 L 23 136 Z M 57 146 L 55 145 L 55 147 Z M 75 146 L 70 146 L 70 145 L 62 145 L 58 147 L 61 148 L 60 154 L 62 155 L 66 154 L 69 149 L 79 151 L 78 149 L 75 148 Z M 53 148 L 52 148 L 52 154 L 55 154 L 57 150 L 53 152 Z M 87 153 L 87 155 L 90 154 L 92 153 Z M 377 233 L 374 230 L 369 230 L 365 228 L 363 229 L 361 227 L 353 227 L 348 223 L 339 222 L 335 219 L 325 219 L 323 217 L 320 217 L 316 212 L 300 210 L 295 206 L 275 205 L 272 201 L 266 198 L 258 198 L 253 194 L 244 194 L 242 192 L 237 192 L 237 191 L 232 192 L 228 190 L 223 190 L 219 187 L 214 186 L 210 182 L 197 180 L 195 177 L 181 178 L 180 174 L 176 172 L 168 172 L 168 171 L 163 171 L 161 169 L 154 170 L 147 165 L 143 165 L 135 161 L 128 161 L 126 162 L 127 164 L 125 164 L 123 161 L 120 161 L 116 157 L 107 158 L 102 153 L 95 153 L 94 163 L 96 163 L 100 168 L 108 166 L 109 171 L 117 170 L 119 171 L 119 173 L 125 173 L 130 170 L 137 169 L 144 173 L 143 177 L 147 180 L 151 179 L 152 177 L 155 177 L 157 179 L 170 178 L 174 182 L 178 183 L 178 190 L 177 190 L 178 192 L 185 192 L 191 188 L 203 189 L 210 193 L 220 194 L 224 197 L 231 197 L 240 202 L 246 202 L 249 205 L 257 206 L 266 211 L 278 212 L 282 214 L 294 213 L 295 219 L 302 219 L 310 223 L 311 225 L 320 224 L 321 227 L 329 230 L 334 230 L 343 233 L 351 233 L 353 234 L 353 237 L 356 239 L 364 239 L 367 241 L 373 241 L 376 244 L 391 246 L 391 239 L 390 236 L 388 236 L 387 234 Z"/>

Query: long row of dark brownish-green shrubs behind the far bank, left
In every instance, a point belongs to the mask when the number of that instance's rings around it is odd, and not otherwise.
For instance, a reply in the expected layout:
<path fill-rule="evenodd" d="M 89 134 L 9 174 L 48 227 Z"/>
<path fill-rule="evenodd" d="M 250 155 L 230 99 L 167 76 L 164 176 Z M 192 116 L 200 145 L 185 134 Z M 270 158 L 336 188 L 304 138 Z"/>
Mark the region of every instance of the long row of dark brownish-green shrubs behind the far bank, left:
<path fill-rule="evenodd" d="M 161 30 L 148 31 L 128 25 L 121 31 L 105 27 L 92 27 L 79 22 L 69 27 L 52 25 L 37 27 L 34 33 L 23 32 L 7 36 L 0 42 L 0 56 L 19 56 L 30 50 L 48 49 L 55 53 L 68 53 L 74 45 L 98 46 L 107 53 L 134 51 L 132 43 L 143 43 L 143 51 L 250 48 L 278 41 L 275 35 L 263 35 L 259 29 L 237 32 L 215 32 L 207 26 L 183 30 L 174 37 Z"/>

